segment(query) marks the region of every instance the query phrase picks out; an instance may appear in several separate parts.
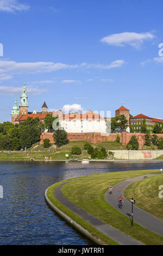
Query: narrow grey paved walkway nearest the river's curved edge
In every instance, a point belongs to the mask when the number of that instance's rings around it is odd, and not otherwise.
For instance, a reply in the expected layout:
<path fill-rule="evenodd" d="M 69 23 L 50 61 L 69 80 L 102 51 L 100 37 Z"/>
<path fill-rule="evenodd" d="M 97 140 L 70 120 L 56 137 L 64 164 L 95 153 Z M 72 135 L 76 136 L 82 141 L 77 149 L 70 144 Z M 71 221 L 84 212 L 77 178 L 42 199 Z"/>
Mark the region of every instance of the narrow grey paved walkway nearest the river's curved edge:
<path fill-rule="evenodd" d="M 101 221 L 100 219 L 90 215 L 89 213 L 85 212 L 83 209 L 78 207 L 77 205 L 71 203 L 65 196 L 62 194 L 62 186 L 66 183 L 71 182 L 67 181 L 62 183 L 54 190 L 55 197 L 65 205 L 68 209 L 76 213 L 78 216 L 83 218 L 86 222 L 89 222 L 93 227 L 101 231 L 106 236 L 109 236 L 112 240 L 116 241 L 120 245 L 142 245 L 141 242 L 133 239 L 132 237 L 122 233 L 121 231 L 111 227 L 110 225 L 106 224 L 105 222 Z"/>

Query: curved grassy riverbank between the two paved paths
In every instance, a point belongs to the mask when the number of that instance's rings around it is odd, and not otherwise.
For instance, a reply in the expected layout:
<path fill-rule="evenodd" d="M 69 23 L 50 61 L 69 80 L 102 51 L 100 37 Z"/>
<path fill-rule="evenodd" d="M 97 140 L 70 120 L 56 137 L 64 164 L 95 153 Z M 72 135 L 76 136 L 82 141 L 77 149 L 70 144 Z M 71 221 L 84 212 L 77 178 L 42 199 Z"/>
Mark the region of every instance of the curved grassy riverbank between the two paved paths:
<path fill-rule="evenodd" d="M 65 184 L 62 187 L 62 192 L 68 200 L 72 201 L 72 203 L 78 205 L 86 212 L 89 212 L 91 215 L 112 225 L 112 227 L 117 228 L 134 239 L 141 241 L 145 245 L 163 245 L 163 237 L 142 228 L 136 223 L 134 223 L 134 227 L 131 228 L 129 218 L 122 215 L 104 200 L 104 194 L 106 190 L 108 190 L 110 184 L 114 186 L 114 184 L 121 182 L 126 178 L 146 175 L 157 171 L 158 170 L 123 171 L 85 176 Z M 52 200 L 55 205 L 57 199 L 55 199 L 53 195 L 53 190 L 57 185 L 55 184 L 53 186 L 54 187 L 51 187 L 48 193 L 50 196 L 49 199 Z M 57 207 L 60 207 L 58 202 Z M 59 208 L 60 210 L 67 212 L 65 207 L 62 205 L 61 207 L 62 209 Z M 68 212 L 66 214 L 68 215 Z M 76 218 L 76 215 L 73 216 L 72 212 L 71 218 Z M 84 223 L 85 222 L 80 219 L 80 225 L 83 226 Z"/>

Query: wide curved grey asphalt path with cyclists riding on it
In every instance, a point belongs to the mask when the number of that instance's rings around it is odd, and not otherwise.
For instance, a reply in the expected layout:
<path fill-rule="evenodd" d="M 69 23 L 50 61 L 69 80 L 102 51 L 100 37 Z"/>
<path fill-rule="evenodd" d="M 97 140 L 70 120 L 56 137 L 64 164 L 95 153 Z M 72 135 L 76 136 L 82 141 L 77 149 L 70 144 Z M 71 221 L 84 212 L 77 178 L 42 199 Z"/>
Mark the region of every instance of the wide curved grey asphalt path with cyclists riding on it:
<path fill-rule="evenodd" d="M 156 174 L 148 174 L 146 177 L 156 175 Z M 141 180 L 145 175 L 128 178 L 125 181 L 117 183 L 113 189 L 112 194 L 110 195 L 109 190 L 105 193 L 105 200 L 114 207 L 117 211 L 123 213 L 131 219 L 131 203 L 124 198 L 123 191 L 126 187 L 129 186 L 130 183 Z M 123 206 L 122 210 L 118 207 L 118 198 L 122 195 L 123 197 Z M 130 195 L 132 197 L 132 195 Z M 133 206 L 133 221 L 140 224 L 142 227 L 153 231 L 154 233 L 163 236 L 163 221 L 161 219 L 151 215 L 150 213 L 143 211 L 137 206 Z"/>

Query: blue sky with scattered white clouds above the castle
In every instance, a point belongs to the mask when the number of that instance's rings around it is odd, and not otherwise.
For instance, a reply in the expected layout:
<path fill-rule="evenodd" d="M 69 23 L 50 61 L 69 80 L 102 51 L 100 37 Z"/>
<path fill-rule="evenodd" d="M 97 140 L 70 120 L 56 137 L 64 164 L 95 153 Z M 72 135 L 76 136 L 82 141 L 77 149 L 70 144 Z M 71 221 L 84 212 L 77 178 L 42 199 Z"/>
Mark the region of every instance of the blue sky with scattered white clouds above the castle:
<path fill-rule="evenodd" d="M 0 0 L 0 122 L 26 82 L 29 111 L 162 118 L 163 2 Z M 163 52 L 163 51 L 162 51 Z"/>

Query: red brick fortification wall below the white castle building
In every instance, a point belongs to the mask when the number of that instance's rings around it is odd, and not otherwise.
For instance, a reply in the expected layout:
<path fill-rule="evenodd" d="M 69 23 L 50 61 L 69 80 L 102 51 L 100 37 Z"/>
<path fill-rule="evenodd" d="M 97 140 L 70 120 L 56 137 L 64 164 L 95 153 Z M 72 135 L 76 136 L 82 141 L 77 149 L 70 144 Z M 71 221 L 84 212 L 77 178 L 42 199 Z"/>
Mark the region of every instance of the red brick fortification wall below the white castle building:
<path fill-rule="evenodd" d="M 120 142 L 122 145 L 127 145 L 129 140 L 131 139 L 131 136 L 135 135 L 136 138 L 139 141 L 139 147 L 142 148 L 142 146 L 145 144 L 145 134 L 143 133 L 126 133 L 122 132 L 119 133 L 120 135 Z M 163 134 L 156 134 L 159 138 L 163 138 Z M 68 133 L 68 140 L 70 141 L 78 141 L 78 140 L 86 140 L 93 144 L 98 142 L 105 142 L 105 141 L 115 141 L 117 138 L 116 133 L 108 133 L 104 136 L 101 133 Z M 50 143 L 54 143 L 53 140 L 53 133 L 42 133 L 40 136 L 40 144 L 43 143 L 44 139 L 49 139 Z"/>

